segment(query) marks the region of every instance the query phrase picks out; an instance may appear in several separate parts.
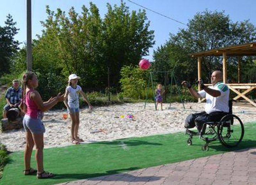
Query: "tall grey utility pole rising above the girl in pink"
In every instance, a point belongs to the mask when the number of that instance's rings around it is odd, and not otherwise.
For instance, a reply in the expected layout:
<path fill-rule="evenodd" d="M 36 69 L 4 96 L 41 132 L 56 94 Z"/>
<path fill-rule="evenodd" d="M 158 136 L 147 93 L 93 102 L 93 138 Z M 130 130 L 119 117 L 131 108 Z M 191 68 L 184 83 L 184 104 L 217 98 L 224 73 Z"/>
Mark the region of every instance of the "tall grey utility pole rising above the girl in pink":
<path fill-rule="evenodd" d="M 27 0 L 27 71 L 32 71 L 31 0 Z"/>

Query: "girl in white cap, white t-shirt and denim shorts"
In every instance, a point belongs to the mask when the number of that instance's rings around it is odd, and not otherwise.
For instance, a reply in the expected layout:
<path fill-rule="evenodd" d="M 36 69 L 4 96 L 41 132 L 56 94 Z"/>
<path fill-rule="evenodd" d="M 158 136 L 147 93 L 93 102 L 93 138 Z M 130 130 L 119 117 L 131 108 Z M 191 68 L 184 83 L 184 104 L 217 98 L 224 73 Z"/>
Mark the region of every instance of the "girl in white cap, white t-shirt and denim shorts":
<path fill-rule="evenodd" d="M 71 117 L 72 125 L 71 125 L 71 142 L 73 144 L 80 144 L 83 142 L 81 138 L 78 137 L 78 129 L 79 129 L 79 94 L 84 98 L 85 102 L 89 105 L 89 109 L 92 110 L 90 102 L 85 97 L 85 93 L 82 91 L 82 88 L 77 85 L 79 76 L 76 74 L 69 75 L 68 87 L 66 87 L 66 92 L 64 97 L 68 97 L 68 101 L 64 101 L 66 108 L 68 109 L 68 113 Z"/>

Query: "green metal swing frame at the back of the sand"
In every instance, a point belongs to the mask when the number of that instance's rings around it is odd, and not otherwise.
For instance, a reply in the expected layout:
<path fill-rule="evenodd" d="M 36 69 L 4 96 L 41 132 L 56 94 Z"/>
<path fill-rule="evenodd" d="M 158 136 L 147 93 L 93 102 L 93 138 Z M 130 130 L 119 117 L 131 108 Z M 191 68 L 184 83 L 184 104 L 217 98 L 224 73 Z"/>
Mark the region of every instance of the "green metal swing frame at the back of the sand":
<path fill-rule="evenodd" d="M 175 69 L 175 67 L 174 67 Z M 181 92 L 180 92 L 180 89 L 178 88 L 178 85 L 177 85 L 177 80 L 175 78 L 175 75 L 174 75 L 174 69 L 171 70 L 171 71 L 150 71 L 149 72 L 149 77 L 148 77 L 148 86 L 147 86 L 147 91 L 146 91 L 146 100 L 145 100 L 145 105 L 144 105 L 144 109 L 146 108 L 146 103 L 148 101 L 148 93 L 150 91 L 150 82 L 151 82 L 151 90 L 153 92 L 153 100 L 154 100 L 154 104 L 155 104 L 155 110 L 156 110 L 156 99 L 155 99 L 155 90 L 154 90 L 154 83 L 153 83 L 153 73 L 164 73 L 165 74 L 165 80 L 164 80 L 164 87 L 165 87 L 165 92 L 167 92 L 167 82 L 169 82 L 169 75 L 170 75 L 170 78 L 171 78 L 171 88 L 170 88 L 170 105 L 169 105 L 169 108 L 171 108 L 171 100 L 172 100 L 172 83 L 174 82 L 175 85 L 177 86 L 177 91 L 178 91 L 178 96 L 182 102 L 182 105 L 183 105 L 183 109 L 185 109 L 185 106 L 184 106 L 184 102 L 182 100 L 182 97 L 181 97 Z M 166 99 L 166 93 L 165 93 L 165 98 Z"/>

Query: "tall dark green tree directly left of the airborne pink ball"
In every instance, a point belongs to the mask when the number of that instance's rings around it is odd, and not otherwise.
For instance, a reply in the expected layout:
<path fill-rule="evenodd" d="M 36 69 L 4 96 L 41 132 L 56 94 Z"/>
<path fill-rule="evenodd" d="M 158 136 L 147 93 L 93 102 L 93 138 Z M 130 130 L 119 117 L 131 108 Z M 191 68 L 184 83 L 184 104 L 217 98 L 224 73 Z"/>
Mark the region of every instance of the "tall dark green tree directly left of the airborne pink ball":
<path fill-rule="evenodd" d="M 149 30 L 145 10 L 130 13 L 123 1 L 119 7 L 107 4 L 107 8 L 103 21 L 104 59 L 117 84 L 123 65 L 138 65 L 155 44 L 154 31 Z"/>

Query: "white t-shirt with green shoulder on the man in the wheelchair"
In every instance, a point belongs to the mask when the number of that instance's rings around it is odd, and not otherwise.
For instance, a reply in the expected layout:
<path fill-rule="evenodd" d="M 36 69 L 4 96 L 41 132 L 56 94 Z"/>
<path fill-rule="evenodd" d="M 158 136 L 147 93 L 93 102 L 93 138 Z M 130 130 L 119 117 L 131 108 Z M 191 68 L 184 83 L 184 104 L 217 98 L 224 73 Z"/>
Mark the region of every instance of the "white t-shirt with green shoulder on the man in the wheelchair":
<path fill-rule="evenodd" d="M 210 86 L 209 88 L 218 90 L 220 92 L 220 96 L 213 97 L 210 94 L 206 93 L 204 90 L 199 91 L 198 94 L 202 98 L 206 98 L 206 106 L 205 111 L 207 114 L 215 111 L 223 111 L 229 112 L 229 88 L 223 82 L 218 82 L 214 86 Z"/>

